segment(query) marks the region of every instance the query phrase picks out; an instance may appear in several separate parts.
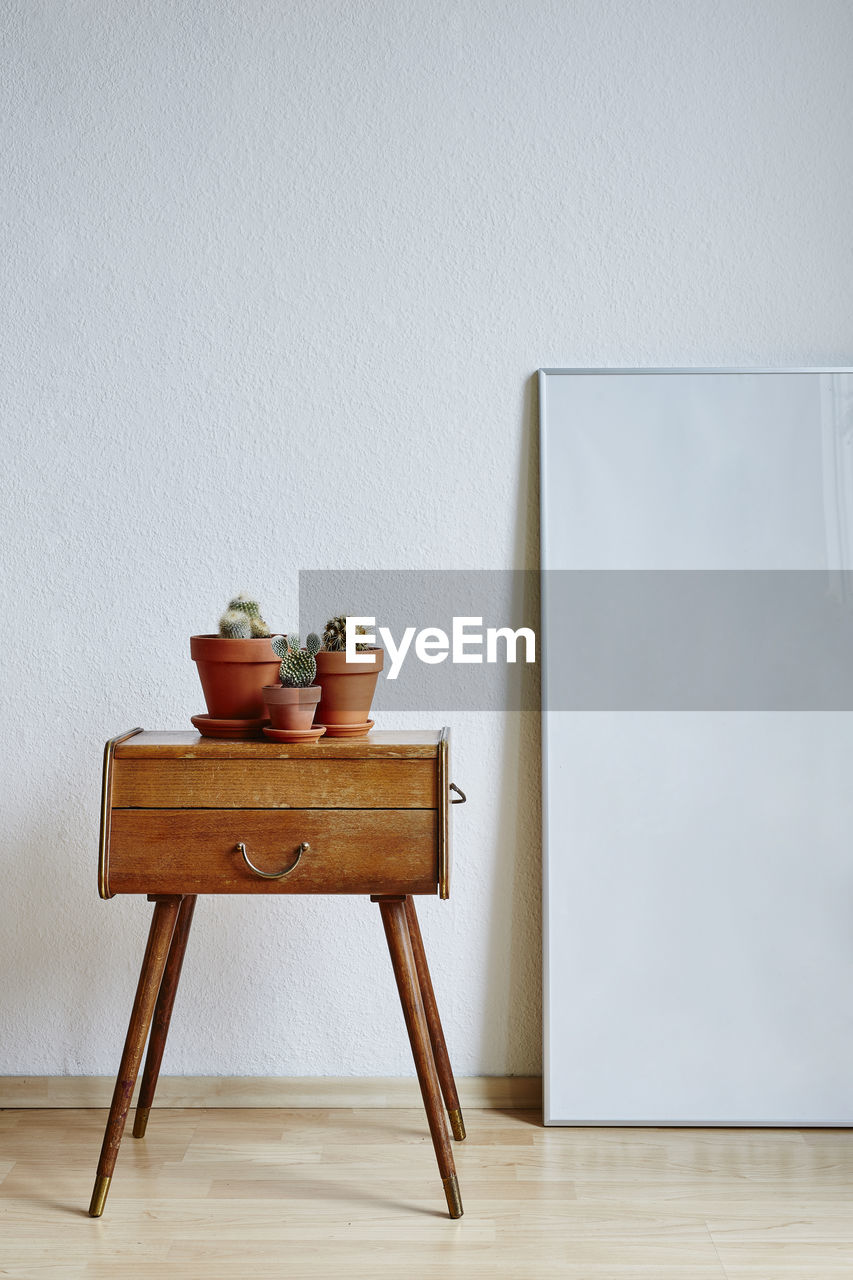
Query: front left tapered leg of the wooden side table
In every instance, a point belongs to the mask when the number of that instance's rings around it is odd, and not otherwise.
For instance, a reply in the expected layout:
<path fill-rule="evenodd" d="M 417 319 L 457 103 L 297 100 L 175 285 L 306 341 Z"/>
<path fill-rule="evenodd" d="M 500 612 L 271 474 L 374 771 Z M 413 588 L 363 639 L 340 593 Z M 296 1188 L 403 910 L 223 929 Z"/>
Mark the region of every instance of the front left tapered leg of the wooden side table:
<path fill-rule="evenodd" d="M 158 992 L 160 989 L 160 980 L 163 978 L 163 970 L 165 969 L 167 957 L 169 955 L 169 943 L 172 942 L 172 934 L 174 932 L 179 906 L 181 897 L 177 896 L 158 899 L 154 908 L 154 918 L 151 920 L 151 929 L 149 931 L 149 942 L 145 948 L 142 970 L 140 973 L 140 982 L 136 988 L 133 1010 L 131 1012 L 131 1023 L 124 1041 L 124 1052 L 122 1053 L 122 1062 L 119 1066 L 118 1079 L 115 1080 L 110 1114 L 106 1121 L 106 1133 L 104 1134 L 101 1157 L 97 1162 L 95 1190 L 92 1192 L 92 1201 L 88 1206 L 90 1217 L 100 1217 L 104 1212 L 106 1193 L 110 1189 L 110 1179 L 113 1176 L 113 1170 L 115 1169 L 115 1157 L 118 1156 L 122 1134 L 124 1133 L 124 1121 L 127 1120 L 127 1114 L 131 1108 L 133 1087 L 140 1071 L 142 1050 L 145 1048 L 149 1027 L 151 1025 L 154 1002 L 156 1001 Z"/>

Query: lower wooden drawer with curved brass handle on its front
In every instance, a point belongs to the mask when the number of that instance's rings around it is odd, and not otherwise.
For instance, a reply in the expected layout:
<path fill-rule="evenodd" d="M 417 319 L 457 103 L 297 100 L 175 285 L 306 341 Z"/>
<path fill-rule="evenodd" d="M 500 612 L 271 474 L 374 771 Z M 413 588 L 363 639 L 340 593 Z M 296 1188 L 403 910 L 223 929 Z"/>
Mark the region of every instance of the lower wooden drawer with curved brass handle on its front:
<path fill-rule="evenodd" d="M 280 768 L 280 763 L 278 765 Z M 430 809 L 113 809 L 105 896 L 114 893 L 434 893 Z M 282 879 L 251 872 L 251 861 Z"/>

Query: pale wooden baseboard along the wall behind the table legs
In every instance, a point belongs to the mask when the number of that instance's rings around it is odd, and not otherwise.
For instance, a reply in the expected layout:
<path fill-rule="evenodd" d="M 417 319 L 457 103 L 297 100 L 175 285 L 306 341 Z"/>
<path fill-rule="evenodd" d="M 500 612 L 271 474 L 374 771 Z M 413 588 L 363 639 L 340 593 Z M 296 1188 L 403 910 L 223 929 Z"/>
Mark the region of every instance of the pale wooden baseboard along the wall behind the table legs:
<path fill-rule="evenodd" d="M 0 1075 L 0 1107 L 108 1107 L 105 1075 Z M 462 1110 L 542 1106 L 538 1075 L 469 1075 L 456 1080 Z M 137 1082 L 138 1088 L 138 1082 Z M 159 1107 L 419 1107 L 411 1076 L 164 1075 Z"/>

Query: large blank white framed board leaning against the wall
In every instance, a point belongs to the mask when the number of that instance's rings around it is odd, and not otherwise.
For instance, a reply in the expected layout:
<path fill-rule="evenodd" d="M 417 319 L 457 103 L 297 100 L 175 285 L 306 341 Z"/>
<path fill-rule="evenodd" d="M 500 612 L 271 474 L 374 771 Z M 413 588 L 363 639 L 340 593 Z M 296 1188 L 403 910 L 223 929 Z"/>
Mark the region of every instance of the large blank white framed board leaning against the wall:
<path fill-rule="evenodd" d="M 853 1124 L 853 375 L 542 370 L 547 1124 Z"/>

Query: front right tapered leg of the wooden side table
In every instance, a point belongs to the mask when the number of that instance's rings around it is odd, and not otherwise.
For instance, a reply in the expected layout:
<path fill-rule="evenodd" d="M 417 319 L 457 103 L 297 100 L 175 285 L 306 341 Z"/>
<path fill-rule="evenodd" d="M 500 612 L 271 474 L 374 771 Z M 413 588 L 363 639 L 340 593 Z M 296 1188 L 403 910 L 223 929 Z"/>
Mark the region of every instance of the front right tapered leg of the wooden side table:
<path fill-rule="evenodd" d="M 415 968 L 411 938 L 409 936 L 409 923 L 406 920 L 406 900 L 403 897 L 377 897 L 382 911 L 382 923 L 386 928 L 391 963 L 397 979 L 400 1002 L 406 1019 L 406 1030 L 411 1042 L 411 1051 L 415 1059 L 418 1082 L 424 1098 L 429 1132 L 435 1148 L 438 1170 L 444 1184 L 447 1208 L 451 1217 L 462 1216 L 462 1201 L 459 1193 L 456 1179 L 456 1165 L 453 1164 L 453 1151 L 447 1135 L 444 1124 L 444 1108 L 442 1106 L 441 1085 L 433 1057 L 433 1046 L 429 1038 L 429 1027 L 424 1012 L 424 1001 Z"/>

